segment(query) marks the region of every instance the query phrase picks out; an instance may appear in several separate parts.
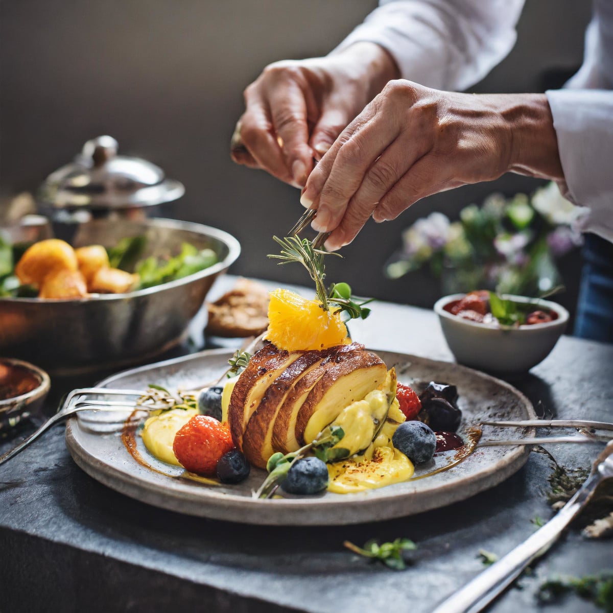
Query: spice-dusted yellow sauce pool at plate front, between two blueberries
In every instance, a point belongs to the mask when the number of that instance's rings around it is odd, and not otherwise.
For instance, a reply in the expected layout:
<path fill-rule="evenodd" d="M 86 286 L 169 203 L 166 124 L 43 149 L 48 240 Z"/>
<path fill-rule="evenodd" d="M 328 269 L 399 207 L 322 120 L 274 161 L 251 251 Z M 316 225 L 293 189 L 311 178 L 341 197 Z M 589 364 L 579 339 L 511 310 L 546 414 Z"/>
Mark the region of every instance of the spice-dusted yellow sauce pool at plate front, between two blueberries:
<path fill-rule="evenodd" d="M 406 481 L 414 467 L 405 454 L 392 447 L 376 447 L 370 460 L 355 458 L 328 465 L 329 492 L 349 494 Z"/>

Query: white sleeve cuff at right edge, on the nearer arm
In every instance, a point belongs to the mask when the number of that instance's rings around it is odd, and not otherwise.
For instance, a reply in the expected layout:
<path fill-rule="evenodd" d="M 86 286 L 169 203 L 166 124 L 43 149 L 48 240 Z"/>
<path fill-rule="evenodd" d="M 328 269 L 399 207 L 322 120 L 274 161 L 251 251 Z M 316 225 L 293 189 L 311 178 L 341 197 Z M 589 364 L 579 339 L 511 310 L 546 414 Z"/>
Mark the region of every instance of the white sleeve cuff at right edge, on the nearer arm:
<path fill-rule="evenodd" d="M 565 182 L 560 191 L 587 207 L 579 228 L 613 241 L 613 91 L 547 91 Z"/>

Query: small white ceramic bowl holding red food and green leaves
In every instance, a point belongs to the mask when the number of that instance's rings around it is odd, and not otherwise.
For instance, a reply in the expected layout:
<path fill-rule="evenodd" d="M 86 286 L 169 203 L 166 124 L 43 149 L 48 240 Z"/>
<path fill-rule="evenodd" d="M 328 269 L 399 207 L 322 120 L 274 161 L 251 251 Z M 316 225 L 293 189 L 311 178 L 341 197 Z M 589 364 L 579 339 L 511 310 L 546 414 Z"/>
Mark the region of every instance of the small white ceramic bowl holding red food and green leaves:
<path fill-rule="evenodd" d="M 464 295 L 444 296 L 434 305 L 447 345 L 460 364 L 502 376 L 524 375 L 549 355 L 566 329 L 568 311 L 549 300 L 539 302 L 557 313 L 557 319 L 516 328 L 479 324 L 444 310 L 443 307 Z M 503 295 L 503 298 L 531 302 L 523 296 Z"/>

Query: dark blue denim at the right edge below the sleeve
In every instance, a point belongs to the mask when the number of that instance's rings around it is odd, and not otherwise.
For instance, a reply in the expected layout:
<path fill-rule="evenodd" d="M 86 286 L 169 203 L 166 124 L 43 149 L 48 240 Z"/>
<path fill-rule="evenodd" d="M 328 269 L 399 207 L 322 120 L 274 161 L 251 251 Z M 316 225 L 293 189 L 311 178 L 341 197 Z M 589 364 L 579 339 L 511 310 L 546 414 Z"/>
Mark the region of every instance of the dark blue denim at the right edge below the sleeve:
<path fill-rule="evenodd" d="M 613 343 L 613 243 L 585 235 L 574 335 Z"/>

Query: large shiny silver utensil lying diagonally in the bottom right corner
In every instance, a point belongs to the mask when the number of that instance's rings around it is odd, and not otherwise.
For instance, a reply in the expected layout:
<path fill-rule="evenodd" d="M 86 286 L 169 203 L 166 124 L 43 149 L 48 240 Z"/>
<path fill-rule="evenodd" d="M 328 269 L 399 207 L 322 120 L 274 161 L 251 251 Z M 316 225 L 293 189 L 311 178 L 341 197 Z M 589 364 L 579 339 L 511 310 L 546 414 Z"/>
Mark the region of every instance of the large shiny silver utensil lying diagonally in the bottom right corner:
<path fill-rule="evenodd" d="M 432 613 L 478 613 L 507 588 L 535 558 L 551 547 L 568 524 L 588 503 L 598 485 L 613 477 L 613 440 L 592 465 L 592 471 L 575 495 L 557 515 L 524 543 L 500 558 L 487 570 L 460 588 Z"/>

